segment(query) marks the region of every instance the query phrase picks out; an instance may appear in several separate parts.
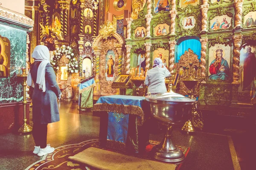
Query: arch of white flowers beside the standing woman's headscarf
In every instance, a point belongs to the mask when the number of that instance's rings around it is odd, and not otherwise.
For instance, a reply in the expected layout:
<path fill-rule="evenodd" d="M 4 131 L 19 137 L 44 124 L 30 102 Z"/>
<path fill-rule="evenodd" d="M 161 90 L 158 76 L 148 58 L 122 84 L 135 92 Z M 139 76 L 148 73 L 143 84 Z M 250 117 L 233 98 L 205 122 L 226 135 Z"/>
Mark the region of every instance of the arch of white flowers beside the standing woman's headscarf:
<path fill-rule="evenodd" d="M 61 59 L 62 56 L 65 56 L 69 59 L 67 66 L 67 71 L 69 73 L 78 73 L 79 71 L 79 63 L 76 59 L 75 54 L 73 53 L 73 49 L 70 46 L 62 45 L 61 48 L 56 48 L 53 51 L 53 59 L 51 61 L 52 67 L 54 71 L 59 69 L 58 67 L 58 60 Z"/>

